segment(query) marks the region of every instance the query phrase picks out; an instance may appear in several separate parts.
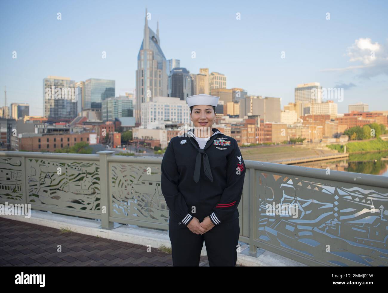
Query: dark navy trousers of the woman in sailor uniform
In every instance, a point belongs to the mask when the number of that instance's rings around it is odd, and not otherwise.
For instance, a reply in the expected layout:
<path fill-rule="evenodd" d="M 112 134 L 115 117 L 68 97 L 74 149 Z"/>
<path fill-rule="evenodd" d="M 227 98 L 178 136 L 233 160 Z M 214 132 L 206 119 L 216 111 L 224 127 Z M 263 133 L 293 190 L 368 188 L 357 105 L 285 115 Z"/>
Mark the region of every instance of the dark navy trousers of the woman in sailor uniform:
<path fill-rule="evenodd" d="M 201 223 L 201 220 L 199 219 Z M 180 224 L 179 224 L 180 223 Z M 173 266 L 199 266 L 205 241 L 209 266 L 236 266 L 240 235 L 239 218 L 215 225 L 197 235 L 181 222 L 168 222 Z"/>

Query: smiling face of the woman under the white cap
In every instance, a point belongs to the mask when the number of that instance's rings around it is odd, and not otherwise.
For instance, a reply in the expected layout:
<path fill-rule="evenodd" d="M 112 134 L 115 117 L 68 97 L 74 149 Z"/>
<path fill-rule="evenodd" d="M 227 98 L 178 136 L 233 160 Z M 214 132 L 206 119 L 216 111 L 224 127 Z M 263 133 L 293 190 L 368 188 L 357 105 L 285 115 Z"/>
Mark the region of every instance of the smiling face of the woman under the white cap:
<path fill-rule="evenodd" d="M 192 107 L 190 120 L 194 124 L 194 130 L 197 130 L 197 134 L 194 132 L 197 137 L 208 137 L 212 134 L 211 127 L 216 117 L 214 108 L 214 106 L 209 105 Z M 198 130 L 200 131 L 198 132 Z"/>

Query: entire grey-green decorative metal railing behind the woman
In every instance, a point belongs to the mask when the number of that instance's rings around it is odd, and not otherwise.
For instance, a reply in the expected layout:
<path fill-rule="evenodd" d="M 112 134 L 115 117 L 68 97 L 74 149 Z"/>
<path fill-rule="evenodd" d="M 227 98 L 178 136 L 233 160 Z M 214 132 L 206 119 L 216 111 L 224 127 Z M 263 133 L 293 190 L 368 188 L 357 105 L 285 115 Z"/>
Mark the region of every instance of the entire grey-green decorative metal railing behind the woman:
<path fill-rule="evenodd" d="M 0 152 L 0 204 L 168 229 L 162 158 Z M 245 160 L 240 240 L 307 265 L 388 265 L 388 178 Z M 280 206 L 278 206 L 280 205 Z"/>

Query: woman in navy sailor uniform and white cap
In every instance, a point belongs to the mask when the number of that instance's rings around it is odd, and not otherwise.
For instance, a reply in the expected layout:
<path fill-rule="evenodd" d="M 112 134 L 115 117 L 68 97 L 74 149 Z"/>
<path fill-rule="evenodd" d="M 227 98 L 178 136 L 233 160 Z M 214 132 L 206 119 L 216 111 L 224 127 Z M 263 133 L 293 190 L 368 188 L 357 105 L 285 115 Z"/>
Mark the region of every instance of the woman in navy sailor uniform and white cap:
<path fill-rule="evenodd" d="M 236 266 L 246 170 L 237 141 L 211 128 L 218 99 L 186 99 L 194 128 L 173 137 L 163 156 L 161 190 L 174 266 L 199 266 L 203 241 L 209 266 Z"/>

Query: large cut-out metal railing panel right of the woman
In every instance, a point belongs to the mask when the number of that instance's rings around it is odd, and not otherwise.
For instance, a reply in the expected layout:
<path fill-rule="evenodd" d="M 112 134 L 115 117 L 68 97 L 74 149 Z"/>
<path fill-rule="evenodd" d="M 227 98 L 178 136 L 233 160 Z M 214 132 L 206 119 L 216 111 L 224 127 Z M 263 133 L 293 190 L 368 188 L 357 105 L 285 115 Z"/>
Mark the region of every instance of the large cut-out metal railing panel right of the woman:
<path fill-rule="evenodd" d="M 388 265 L 386 188 L 258 174 L 256 240 L 329 266 Z"/>

